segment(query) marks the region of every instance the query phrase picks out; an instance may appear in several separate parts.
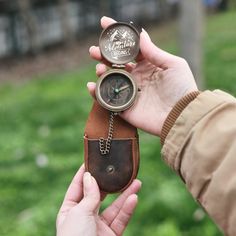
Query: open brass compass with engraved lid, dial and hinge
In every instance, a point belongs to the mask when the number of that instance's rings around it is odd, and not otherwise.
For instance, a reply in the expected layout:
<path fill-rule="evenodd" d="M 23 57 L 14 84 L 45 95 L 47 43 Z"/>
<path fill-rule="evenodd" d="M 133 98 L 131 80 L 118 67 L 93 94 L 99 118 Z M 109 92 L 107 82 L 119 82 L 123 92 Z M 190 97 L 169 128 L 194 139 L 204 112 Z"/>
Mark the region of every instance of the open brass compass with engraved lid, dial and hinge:
<path fill-rule="evenodd" d="M 139 53 L 139 32 L 132 23 L 112 24 L 101 33 L 99 47 L 112 69 L 97 81 L 97 101 L 111 112 L 124 111 L 134 104 L 138 91 L 132 75 L 124 68 Z"/>

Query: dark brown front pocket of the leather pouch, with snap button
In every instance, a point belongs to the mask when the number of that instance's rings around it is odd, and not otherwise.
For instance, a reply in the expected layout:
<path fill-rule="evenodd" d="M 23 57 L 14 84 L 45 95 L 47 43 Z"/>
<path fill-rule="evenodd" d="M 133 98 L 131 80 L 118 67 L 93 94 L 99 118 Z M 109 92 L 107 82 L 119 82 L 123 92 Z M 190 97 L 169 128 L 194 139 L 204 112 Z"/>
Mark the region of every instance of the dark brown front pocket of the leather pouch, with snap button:
<path fill-rule="evenodd" d="M 99 140 L 84 139 L 89 158 L 86 169 L 97 180 L 103 192 L 114 193 L 125 189 L 137 175 L 139 155 L 137 139 L 113 139 L 109 154 L 101 155 Z"/>

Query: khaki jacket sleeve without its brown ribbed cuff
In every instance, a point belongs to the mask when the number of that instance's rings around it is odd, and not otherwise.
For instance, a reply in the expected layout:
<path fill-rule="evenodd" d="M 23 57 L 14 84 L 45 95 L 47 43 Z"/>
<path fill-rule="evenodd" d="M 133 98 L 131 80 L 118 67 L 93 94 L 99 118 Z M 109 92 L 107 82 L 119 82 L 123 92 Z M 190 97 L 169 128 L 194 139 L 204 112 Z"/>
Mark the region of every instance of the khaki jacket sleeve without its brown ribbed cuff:
<path fill-rule="evenodd" d="M 181 113 L 162 156 L 226 235 L 236 235 L 236 99 L 205 91 Z"/>

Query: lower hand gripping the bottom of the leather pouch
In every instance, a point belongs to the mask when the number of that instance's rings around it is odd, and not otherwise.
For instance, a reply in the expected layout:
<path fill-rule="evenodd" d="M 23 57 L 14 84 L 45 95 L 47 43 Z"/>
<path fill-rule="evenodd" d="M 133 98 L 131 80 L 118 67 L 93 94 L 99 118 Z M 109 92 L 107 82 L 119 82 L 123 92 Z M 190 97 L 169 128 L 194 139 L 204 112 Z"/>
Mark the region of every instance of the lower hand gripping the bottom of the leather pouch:
<path fill-rule="evenodd" d="M 122 235 L 137 205 L 141 187 L 133 183 L 99 215 L 100 192 L 96 180 L 81 166 L 73 178 L 57 216 L 57 236 Z"/>

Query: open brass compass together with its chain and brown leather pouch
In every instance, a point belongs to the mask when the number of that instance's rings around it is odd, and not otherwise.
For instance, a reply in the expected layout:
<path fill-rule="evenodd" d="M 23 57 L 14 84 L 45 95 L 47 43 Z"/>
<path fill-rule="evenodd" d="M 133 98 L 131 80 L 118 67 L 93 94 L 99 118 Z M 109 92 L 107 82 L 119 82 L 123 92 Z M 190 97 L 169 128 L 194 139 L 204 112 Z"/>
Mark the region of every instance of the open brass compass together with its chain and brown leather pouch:
<path fill-rule="evenodd" d="M 137 128 L 117 114 L 130 108 L 137 97 L 137 85 L 125 65 L 139 53 L 139 32 L 129 23 L 115 23 L 100 35 L 99 47 L 111 69 L 98 79 L 96 98 L 85 135 L 85 167 L 101 191 L 124 191 L 139 168 Z"/>

